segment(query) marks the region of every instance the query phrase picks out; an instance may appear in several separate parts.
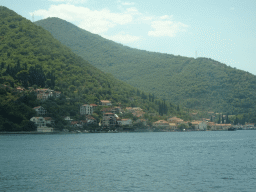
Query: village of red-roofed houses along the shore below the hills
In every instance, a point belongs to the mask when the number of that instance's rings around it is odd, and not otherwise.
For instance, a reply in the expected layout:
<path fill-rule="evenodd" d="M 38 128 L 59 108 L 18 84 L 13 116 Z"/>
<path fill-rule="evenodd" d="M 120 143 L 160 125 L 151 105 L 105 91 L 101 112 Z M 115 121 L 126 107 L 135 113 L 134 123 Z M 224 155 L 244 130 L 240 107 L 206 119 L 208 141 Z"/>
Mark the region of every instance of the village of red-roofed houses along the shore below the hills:
<path fill-rule="evenodd" d="M 20 87 L 18 90 L 22 89 Z M 20 90 L 22 91 L 22 90 Z M 37 99 L 44 101 L 50 97 L 60 97 L 61 92 L 50 89 L 36 89 Z M 99 110 L 100 109 L 100 110 Z M 48 117 L 47 110 L 42 106 L 34 107 L 37 116 L 34 116 L 30 121 L 34 122 L 38 133 L 59 132 L 55 130 L 55 121 Z M 216 123 L 211 119 L 201 119 L 184 121 L 176 116 L 168 117 L 165 120 L 149 122 L 145 118 L 145 112 L 140 107 L 125 107 L 113 106 L 109 100 L 100 100 L 97 104 L 83 104 L 80 106 L 80 119 L 72 119 L 70 116 L 64 116 L 63 120 L 67 122 L 67 126 L 63 127 L 62 132 L 66 133 L 81 133 L 81 132 L 174 132 L 174 131 L 227 131 L 231 127 L 236 129 L 252 129 L 254 125 L 240 126 L 230 123 Z M 95 111 L 100 111 L 102 118 L 97 121 L 93 114 Z M 134 118 L 122 118 L 125 114 L 131 114 Z M 211 117 L 216 114 L 209 112 Z M 154 113 L 147 114 L 156 116 Z"/>

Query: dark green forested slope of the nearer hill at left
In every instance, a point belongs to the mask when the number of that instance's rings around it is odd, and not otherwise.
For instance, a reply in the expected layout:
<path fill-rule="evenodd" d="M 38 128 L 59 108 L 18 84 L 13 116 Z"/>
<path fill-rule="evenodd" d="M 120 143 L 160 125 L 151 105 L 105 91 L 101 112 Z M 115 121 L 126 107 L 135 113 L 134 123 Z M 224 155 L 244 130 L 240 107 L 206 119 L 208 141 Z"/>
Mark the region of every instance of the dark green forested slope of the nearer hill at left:
<path fill-rule="evenodd" d="M 61 128 L 63 116 L 79 118 L 81 104 L 99 104 L 100 100 L 110 100 L 114 106 L 141 107 L 162 116 L 190 118 L 169 101 L 90 65 L 48 31 L 6 7 L 0 7 L 0 42 L 0 131 L 35 129 L 29 119 L 35 115 L 32 108 L 39 105 Z M 25 91 L 17 92 L 18 86 Z M 62 96 L 39 101 L 31 88 L 54 89 Z"/>

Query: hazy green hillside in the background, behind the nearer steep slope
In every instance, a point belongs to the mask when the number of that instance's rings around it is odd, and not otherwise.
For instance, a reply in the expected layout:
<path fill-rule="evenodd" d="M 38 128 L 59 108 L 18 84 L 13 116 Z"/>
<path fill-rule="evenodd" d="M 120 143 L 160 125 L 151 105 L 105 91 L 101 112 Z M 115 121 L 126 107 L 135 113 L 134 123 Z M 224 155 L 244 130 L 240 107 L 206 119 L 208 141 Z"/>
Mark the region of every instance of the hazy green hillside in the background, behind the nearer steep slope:
<path fill-rule="evenodd" d="M 58 18 L 36 22 L 92 65 L 141 90 L 189 108 L 254 113 L 256 76 L 208 58 L 129 48 Z"/>

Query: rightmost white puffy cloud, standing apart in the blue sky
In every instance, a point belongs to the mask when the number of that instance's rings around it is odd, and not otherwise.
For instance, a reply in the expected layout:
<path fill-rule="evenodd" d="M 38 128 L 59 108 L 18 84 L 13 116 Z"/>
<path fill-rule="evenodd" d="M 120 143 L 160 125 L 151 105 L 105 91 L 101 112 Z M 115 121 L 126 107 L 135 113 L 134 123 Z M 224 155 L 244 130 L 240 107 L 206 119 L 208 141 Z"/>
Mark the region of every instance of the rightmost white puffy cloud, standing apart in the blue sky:
<path fill-rule="evenodd" d="M 151 22 L 151 27 L 154 29 L 148 32 L 148 36 L 153 37 L 175 37 L 179 32 L 185 32 L 188 25 L 181 22 L 176 22 L 172 20 L 163 20 L 170 17 L 162 16 L 161 20 L 156 20 Z"/>

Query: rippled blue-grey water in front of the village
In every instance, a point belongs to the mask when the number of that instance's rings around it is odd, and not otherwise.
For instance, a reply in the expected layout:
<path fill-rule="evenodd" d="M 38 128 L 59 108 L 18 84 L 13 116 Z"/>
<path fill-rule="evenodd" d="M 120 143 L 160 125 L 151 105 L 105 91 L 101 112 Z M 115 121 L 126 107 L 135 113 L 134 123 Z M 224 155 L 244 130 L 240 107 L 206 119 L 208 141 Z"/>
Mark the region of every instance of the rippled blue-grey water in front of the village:
<path fill-rule="evenodd" d="M 0 135 L 0 191 L 256 191 L 256 131 Z"/>

